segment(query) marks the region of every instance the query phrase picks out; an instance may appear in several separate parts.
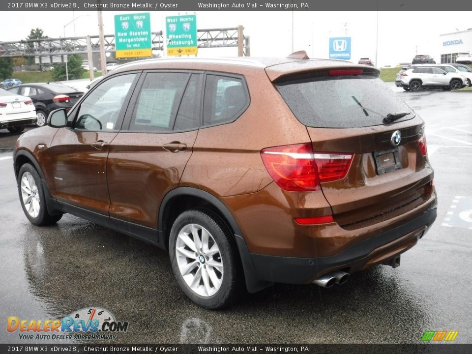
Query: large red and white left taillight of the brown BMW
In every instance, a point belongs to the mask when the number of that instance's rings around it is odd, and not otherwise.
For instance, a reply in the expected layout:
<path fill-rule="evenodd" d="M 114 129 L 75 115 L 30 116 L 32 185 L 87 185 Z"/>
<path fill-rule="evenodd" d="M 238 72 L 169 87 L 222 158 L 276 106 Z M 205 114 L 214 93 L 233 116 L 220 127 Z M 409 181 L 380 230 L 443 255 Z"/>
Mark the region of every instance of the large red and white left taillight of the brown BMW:
<path fill-rule="evenodd" d="M 311 144 L 286 145 L 261 151 L 267 172 L 288 191 L 320 190 L 322 182 L 346 177 L 352 154 L 315 153 Z"/>

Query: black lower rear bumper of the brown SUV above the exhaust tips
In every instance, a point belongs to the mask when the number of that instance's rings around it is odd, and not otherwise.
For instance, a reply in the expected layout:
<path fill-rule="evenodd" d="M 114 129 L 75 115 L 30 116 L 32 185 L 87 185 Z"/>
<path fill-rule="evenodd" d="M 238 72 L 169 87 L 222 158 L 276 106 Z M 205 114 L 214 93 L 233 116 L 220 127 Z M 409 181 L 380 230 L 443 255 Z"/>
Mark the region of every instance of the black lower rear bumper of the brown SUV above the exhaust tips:
<path fill-rule="evenodd" d="M 343 269 L 349 273 L 381 264 L 413 247 L 436 219 L 436 205 L 415 219 L 378 236 L 359 241 L 329 257 L 295 258 L 251 254 L 260 280 L 306 284 L 324 273 Z"/>

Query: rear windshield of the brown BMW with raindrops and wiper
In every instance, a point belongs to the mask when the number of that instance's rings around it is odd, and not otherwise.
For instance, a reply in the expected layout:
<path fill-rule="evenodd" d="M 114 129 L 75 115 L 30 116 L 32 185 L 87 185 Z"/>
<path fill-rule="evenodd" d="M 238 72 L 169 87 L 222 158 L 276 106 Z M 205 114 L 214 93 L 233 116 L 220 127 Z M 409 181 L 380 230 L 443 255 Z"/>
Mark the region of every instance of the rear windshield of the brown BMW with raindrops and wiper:
<path fill-rule="evenodd" d="M 316 128 L 359 128 L 382 125 L 388 114 L 414 113 L 377 77 L 330 76 L 276 84 L 295 117 Z"/>

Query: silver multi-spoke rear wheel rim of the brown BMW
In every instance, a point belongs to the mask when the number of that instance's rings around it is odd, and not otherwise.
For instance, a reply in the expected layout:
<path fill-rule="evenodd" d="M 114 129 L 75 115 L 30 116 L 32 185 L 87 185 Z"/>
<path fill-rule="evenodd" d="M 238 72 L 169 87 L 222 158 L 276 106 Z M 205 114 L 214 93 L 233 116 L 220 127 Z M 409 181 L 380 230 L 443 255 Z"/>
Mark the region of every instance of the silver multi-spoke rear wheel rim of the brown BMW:
<path fill-rule="evenodd" d="M 185 225 L 177 235 L 177 265 L 183 280 L 197 295 L 215 295 L 223 282 L 221 252 L 213 236 L 198 224 Z"/>

